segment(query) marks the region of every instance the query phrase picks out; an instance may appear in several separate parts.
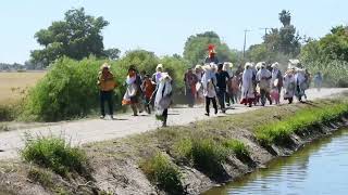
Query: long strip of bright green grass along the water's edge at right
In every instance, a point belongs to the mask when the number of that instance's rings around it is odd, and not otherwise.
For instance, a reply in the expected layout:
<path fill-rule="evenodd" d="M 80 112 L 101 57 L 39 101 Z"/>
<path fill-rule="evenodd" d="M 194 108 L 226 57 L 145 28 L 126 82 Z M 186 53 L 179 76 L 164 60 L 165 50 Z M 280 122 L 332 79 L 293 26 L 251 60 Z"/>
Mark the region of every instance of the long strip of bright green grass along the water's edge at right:
<path fill-rule="evenodd" d="M 347 114 L 347 100 L 333 101 L 332 104 L 323 103 L 319 107 L 307 107 L 296 112 L 281 121 L 263 123 L 257 128 L 256 136 L 263 145 L 284 145 L 288 143 L 293 133 L 299 134 L 321 123 L 327 125 Z"/>

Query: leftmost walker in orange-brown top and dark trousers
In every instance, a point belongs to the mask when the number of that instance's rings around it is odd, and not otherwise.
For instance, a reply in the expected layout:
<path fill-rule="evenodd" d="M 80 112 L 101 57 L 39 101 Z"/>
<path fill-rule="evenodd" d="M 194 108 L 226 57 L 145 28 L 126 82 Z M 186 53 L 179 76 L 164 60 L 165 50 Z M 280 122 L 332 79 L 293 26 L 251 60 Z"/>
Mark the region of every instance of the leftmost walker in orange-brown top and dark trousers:
<path fill-rule="evenodd" d="M 116 87 L 116 82 L 114 80 L 114 76 L 110 70 L 110 65 L 104 63 L 100 67 L 100 72 L 98 73 L 98 81 L 97 84 L 99 87 L 99 96 L 100 96 L 100 118 L 105 118 L 105 108 L 104 104 L 108 103 L 109 115 L 111 119 L 113 119 L 113 91 Z"/>

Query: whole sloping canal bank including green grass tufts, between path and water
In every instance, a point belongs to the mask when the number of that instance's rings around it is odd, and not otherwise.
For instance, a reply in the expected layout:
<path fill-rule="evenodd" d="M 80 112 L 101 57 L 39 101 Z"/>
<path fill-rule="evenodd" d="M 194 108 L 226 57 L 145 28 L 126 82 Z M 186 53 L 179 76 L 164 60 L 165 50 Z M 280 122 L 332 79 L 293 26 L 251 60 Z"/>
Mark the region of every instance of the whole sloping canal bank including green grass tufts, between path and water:
<path fill-rule="evenodd" d="M 233 180 L 285 154 L 282 148 L 287 148 L 287 141 L 294 135 L 298 136 L 297 146 L 309 141 L 309 134 L 324 135 L 324 126 L 339 121 L 347 114 L 348 99 L 345 96 L 309 104 L 265 107 L 185 127 L 169 127 L 85 145 L 79 150 L 87 155 L 88 166 L 92 170 L 89 179 L 82 174 L 64 177 L 36 162 L 34 157 L 32 166 L 44 173 L 30 173 L 29 169 L 25 170 L 29 166 L 27 162 L 18 162 L 14 168 L 16 171 L 11 174 L 0 171 L 0 181 L 20 180 L 24 183 L 21 186 L 39 187 L 42 178 L 50 178 L 53 185 L 46 183 L 49 187 L 41 188 L 41 192 L 50 194 L 57 188 L 75 193 L 84 190 L 86 194 L 198 194 L 214 183 Z M 270 153 L 270 145 L 278 148 L 277 153 Z M 45 148 L 51 151 L 55 147 Z M 38 182 L 34 185 L 23 179 L 28 177 Z M 82 182 L 88 184 L 78 187 Z M 12 191 L 17 187 L 13 183 L 0 183 L 0 186 L 4 191 Z M 32 191 L 26 188 L 26 192 Z"/>

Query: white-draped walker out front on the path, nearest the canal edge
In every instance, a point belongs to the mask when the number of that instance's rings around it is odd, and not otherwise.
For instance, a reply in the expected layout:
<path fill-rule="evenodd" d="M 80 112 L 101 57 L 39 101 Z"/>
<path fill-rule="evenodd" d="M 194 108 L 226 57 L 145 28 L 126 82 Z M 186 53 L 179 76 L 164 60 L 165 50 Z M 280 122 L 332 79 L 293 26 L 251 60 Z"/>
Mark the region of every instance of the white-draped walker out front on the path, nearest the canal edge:
<path fill-rule="evenodd" d="M 156 117 L 162 120 L 162 127 L 166 127 L 167 109 L 172 103 L 172 78 L 167 73 L 162 73 L 158 82 L 154 108 Z"/>

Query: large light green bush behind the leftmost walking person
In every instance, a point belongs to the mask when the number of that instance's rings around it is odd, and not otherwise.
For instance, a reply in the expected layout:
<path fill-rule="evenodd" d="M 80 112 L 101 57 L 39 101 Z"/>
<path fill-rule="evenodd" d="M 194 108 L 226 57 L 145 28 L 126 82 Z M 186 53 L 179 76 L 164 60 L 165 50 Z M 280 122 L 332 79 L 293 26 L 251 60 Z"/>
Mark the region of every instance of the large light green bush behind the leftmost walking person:
<path fill-rule="evenodd" d="M 94 57 L 80 62 L 65 57 L 57 61 L 45 78 L 29 91 L 24 117 L 55 121 L 89 114 L 99 105 L 97 76 L 102 63 L 104 61 Z M 114 63 L 111 65 L 117 83 L 122 83 L 121 75 L 125 73 Z M 122 88 L 115 93 L 117 103 L 121 103 L 120 91 Z"/>

